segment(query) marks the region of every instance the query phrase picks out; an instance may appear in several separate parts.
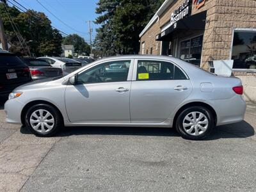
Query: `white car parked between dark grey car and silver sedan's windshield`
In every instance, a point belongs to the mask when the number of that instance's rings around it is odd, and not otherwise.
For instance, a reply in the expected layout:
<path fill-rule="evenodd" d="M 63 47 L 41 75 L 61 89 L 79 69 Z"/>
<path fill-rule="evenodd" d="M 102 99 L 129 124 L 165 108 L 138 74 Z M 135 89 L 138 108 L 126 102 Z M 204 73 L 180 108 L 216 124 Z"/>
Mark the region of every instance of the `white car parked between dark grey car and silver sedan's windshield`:
<path fill-rule="evenodd" d="M 58 57 L 40 57 L 38 59 L 44 60 L 52 67 L 59 67 L 63 70 L 63 75 L 70 74 L 74 72 L 78 68 L 82 67 L 82 63 L 78 61 L 74 61 L 69 58 L 58 58 Z"/>

